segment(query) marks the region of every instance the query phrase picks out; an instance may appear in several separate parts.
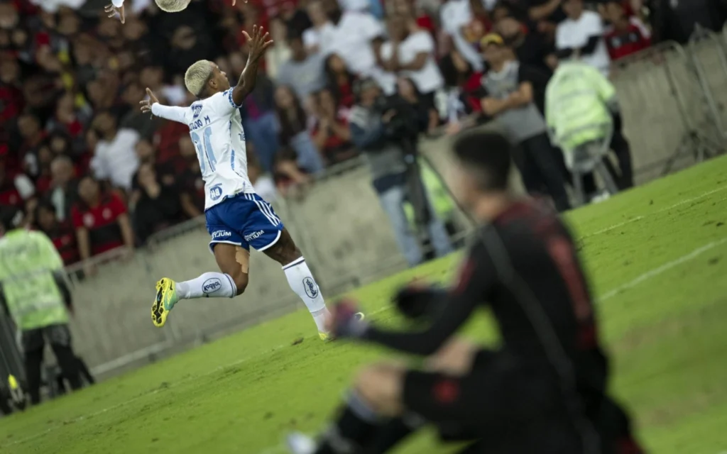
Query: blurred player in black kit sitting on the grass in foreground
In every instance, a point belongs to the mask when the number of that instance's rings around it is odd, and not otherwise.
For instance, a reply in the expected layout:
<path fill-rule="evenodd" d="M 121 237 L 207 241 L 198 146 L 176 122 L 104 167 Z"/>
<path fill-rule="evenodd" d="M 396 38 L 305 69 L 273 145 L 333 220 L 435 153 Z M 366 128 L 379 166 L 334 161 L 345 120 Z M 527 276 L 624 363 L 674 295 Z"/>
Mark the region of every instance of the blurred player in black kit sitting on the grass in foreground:
<path fill-rule="evenodd" d="M 454 145 L 451 189 L 481 227 L 453 288 L 398 294 L 399 309 L 428 328 L 377 328 L 353 317 L 353 301 L 332 311 L 335 336 L 437 355 L 423 370 L 364 368 L 318 442 L 289 437 L 293 453 L 384 453 L 425 421 L 473 440 L 466 453 L 640 453 L 628 417 L 606 395 L 608 364 L 571 235 L 550 210 L 509 192 L 511 151 L 496 133 Z M 499 324 L 499 349 L 453 339 L 484 307 Z"/>

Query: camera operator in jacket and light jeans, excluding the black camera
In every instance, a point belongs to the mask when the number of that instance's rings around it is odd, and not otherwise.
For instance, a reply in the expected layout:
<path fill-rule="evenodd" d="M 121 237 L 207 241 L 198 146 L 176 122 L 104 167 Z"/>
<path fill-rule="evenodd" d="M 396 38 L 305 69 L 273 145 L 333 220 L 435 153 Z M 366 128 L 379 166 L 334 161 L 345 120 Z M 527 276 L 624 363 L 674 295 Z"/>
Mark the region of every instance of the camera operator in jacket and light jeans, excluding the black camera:
<path fill-rule="evenodd" d="M 397 112 L 387 110 L 382 113 L 379 110 L 381 90 L 371 79 L 360 82 L 358 93 L 360 102 L 351 111 L 351 137 L 369 163 L 372 184 L 391 222 L 396 242 L 406 262 L 413 267 L 421 263 L 424 256 L 403 208 L 407 198 L 411 198 L 411 185 L 408 181 L 411 172 L 406 164 L 405 150 L 400 138 L 386 133 L 387 124 Z M 401 115 L 406 113 L 402 112 Z M 426 193 L 424 197 L 429 206 L 427 232 L 435 254 L 449 254 L 451 245 L 444 224 L 436 217 Z"/>

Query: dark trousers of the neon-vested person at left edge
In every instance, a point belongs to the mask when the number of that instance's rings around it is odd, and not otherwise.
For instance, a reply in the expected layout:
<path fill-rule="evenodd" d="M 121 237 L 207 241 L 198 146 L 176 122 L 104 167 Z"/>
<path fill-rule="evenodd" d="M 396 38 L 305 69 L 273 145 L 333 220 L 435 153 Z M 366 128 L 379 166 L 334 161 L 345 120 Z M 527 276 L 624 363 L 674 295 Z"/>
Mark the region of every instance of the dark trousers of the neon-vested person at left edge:
<path fill-rule="evenodd" d="M 25 378 L 28 381 L 28 394 L 31 395 L 33 405 L 41 401 L 41 367 L 46 342 L 50 344 L 58 366 L 71 389 L 81 388 L 79 360 L 71 347 L 71 331 L 68 325 L 49 325 L 23 331 Z"/>

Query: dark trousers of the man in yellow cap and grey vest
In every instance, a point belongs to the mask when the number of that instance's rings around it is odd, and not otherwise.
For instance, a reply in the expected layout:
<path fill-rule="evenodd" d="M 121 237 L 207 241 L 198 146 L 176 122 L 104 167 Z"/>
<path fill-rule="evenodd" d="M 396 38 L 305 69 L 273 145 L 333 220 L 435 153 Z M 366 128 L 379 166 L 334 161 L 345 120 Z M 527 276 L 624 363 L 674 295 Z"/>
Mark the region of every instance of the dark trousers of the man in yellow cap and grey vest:
<path fill-rule="evenodd" d="M 571 208 L 566 192 L 566 181 L 561 171 L 559 157 L 560 150 L 550 145 L 545 133 L 530 137 L 520 142 L 522 153 L 521 174 L 523 184 L 529 193 L 539 193 L 545 188 L 548 195 L 553 198 L 558 211 Z"/>

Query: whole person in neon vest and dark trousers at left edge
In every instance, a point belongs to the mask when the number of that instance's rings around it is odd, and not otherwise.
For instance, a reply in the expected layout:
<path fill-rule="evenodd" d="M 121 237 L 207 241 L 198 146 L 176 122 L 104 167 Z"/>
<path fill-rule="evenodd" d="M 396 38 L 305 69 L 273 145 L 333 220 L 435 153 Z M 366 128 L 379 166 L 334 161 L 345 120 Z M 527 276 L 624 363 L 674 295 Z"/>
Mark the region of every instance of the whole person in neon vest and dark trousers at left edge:
<path fill-rule="evenodd" d="M 20 330 L 28 393 L 38 404 L 46 342 L 71 389 L 80 389 L 81 379 L 68 329 L 72 300 L 63 260 L 43 232 L 18 227 L 22 219 L 12 208 L 0 213 L 0 305 Z"/>

